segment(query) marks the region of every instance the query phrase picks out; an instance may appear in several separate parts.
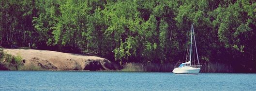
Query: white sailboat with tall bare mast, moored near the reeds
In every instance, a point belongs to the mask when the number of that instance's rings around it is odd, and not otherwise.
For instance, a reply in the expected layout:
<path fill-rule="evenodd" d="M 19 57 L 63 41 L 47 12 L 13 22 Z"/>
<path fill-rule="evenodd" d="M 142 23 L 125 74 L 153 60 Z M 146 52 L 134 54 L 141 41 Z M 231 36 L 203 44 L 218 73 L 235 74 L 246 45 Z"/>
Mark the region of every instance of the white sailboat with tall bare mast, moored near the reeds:
<path fill-rule="evenodd" d="M 192 36 L 194 36 L 194 37 L 192 37 Z M 194 44 L 195 44 L 195 49 L 196 49 L 197 60 L 195 58 L 195 52 L 193 52 L 195 50 L 192 49 L 193 38 L 194 38 L 194 42 L 195 42 Z M 198 58 L 198 53 L 197 53 L 197 48 L 196 48 L 196 39 L 195 39 L 193 24 L 191 25 L 191 39 L 190 40 L 191 40 L 190 41 L 190 50 L 189 50 L 189 52 L 187 50 L 187 56 L 186 56 L 185 62 L 181 63 L 179 67 L 174 67 L 174 69 L 172 70 L 173 73 L 176 73 L 176 74 L 198 74 L 199 73 L 201 65 L 199 63 L 199 58 Z"/>

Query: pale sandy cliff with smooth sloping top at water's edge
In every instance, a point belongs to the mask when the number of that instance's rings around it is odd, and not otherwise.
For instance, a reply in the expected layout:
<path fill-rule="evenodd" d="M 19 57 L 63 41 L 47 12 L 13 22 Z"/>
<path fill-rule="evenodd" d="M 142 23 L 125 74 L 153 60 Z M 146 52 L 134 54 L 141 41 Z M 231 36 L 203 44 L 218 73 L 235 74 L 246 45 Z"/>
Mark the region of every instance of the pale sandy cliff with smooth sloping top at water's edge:
<path fill-rule="evenodd" d="M 34 49 L 4 49 L 8 54 L 20 55 L 24 66 L 38 66 L 53 70 L 119 70 L 120 66 L 108 59 L 80 54 Z"/>

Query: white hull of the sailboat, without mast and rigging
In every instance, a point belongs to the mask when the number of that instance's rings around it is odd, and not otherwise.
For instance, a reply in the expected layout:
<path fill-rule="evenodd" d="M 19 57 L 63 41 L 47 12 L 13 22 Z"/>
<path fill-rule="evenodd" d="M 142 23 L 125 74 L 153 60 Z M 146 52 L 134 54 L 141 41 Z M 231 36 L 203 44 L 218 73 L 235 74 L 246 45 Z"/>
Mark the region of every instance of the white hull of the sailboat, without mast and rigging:
<path fill-rule="evenodd" d="M 198 74 L 200 71 L 200 68 L 193 68 L 189 66 L 181 67 L 181 68 L 174 68 L 172 70 L 173 73 L 176 74 Z"/>

